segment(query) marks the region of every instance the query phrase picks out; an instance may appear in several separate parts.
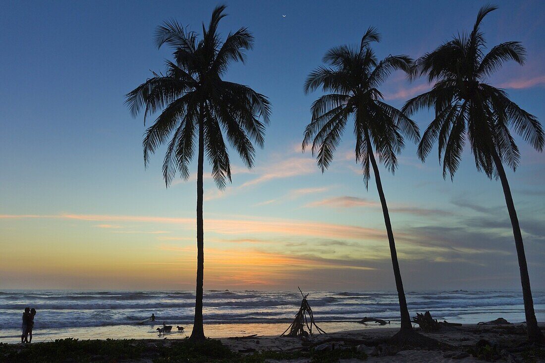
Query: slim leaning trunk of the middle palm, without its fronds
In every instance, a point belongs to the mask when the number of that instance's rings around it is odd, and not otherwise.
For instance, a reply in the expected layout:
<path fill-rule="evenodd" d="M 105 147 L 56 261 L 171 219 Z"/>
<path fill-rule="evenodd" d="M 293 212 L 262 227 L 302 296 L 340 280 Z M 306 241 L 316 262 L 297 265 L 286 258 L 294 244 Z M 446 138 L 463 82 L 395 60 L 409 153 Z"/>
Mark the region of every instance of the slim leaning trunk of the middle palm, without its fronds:
<path fill-rule="evenodd" d="M 384 223 L 386 225 L 386 233 L 388 234 L 388 241 L 390 243 L 390 255 L 392 256 L 393 276 L 396 279 L 396 289 L 399 298 L 399 310 L 401 311 L 401 330 L 413 330 L 413 325 L 410 322 L 409 309 L 407 308 L 407 300 L 405 300 L 405 292 L 403 290 L 403 282 L 401 281 L 401 271 L 399 270 L 399 262 L 397 261 L 396 243 L 393 240 L 392 224 L 390 222 L 390 214 L 388 213 L 388 206 L 386 205 L 386 198 L 384 197 L 384 190 L 382 189 L 382 183 L 380 181 L 380 174 L 377 167 L 377 161 L 374 158 L 373 147 L 369 136 L 366 135 L 367 150 L 369 158 L 371 159 L 371 165 L 373 166 L 373 172 L 375 175 L 375 181 L 377 183 L 378 195 L 380 197 L 380 204 L 382 204 L 382 212 L 384 214 Z"/>

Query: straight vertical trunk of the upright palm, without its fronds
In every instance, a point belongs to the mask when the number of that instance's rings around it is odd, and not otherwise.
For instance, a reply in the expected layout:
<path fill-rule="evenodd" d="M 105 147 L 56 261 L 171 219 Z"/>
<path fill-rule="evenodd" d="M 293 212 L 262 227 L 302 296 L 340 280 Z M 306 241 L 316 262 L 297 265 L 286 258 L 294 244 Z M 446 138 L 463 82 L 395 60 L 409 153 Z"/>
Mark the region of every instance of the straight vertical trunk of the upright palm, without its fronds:
<path fill-rule="evenodd" d="M 202 116 L 201 111 L 201 116 Z M 203 283 L 204 283 L 204 227 L 203 227 L 203 164 L 204 164 L 204 117 L 199 119 L 199 154 L 197 168 L 197 288 L 195 293 L 195 320 L 192 340 L 203 340 Z"/>

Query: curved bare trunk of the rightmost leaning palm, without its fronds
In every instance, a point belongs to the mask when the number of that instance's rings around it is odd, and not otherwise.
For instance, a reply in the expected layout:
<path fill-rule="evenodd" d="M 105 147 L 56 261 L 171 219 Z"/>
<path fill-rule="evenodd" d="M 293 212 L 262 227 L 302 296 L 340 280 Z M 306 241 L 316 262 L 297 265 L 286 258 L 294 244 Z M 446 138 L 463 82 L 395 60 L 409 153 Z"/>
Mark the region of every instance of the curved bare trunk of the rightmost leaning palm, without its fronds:
<path fill-rule="evenodd" d="M 518 267 L 520 269 L 520 283 L 522 283 L 524 313 L 526 315 L 526 326 L 528 326 L 528 339 L 530 342 L 543 342 L 543 333 L 537 326 L 536 313 L 534 312 L 534 300 L 532 299 L 532 291 L 530 289 L 530 276 L 528 275 L 528 265 L 526 265 L 526 255 L 518 224 L 517 210 L 514 209 L 513 197 L 511 196 L 511 189 L 507 182 L 504 166 L 494 146 L 490 146 L 490 153 L 494 159 L 494 164 L 501 180 L 501 186 L 504 188 L 505 203 L 507 204 L 507 210 L 509 211 L 513 227 L 514 245 L 517 248 Z"/>

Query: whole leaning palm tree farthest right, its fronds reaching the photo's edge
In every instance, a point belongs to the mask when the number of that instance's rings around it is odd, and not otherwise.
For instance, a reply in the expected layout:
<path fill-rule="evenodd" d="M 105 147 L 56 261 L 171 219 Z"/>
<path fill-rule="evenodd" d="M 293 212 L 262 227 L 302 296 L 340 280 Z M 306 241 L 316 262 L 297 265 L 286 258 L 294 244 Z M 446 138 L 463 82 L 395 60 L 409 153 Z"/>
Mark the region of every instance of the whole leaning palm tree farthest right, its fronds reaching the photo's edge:
<path fill-rule="evenodd" d="M 431 91 L 407 101 L 403 111 L 413 114 L 420 108 L 435 109 L 435 118 L 422 136 L 418 155 L 425 160 L 435 140 L 439 140 L 444 178 L 450 174 L 452 179 L 458 169 L 466 138 L 477 170 L 489 178 L 500 178 L 517 248 L 528 336 L 530 341 L 537 342 L 543 340 L 543 334 L 536 322 L 522 234 L 504 163 L 514 171 L 520 159 L 510 129 L 538 151 L 543 149 L 545 138 L 536 117 L 511 101 L 504 90 L 485 83 L 505 61 L 523 64 L 525 58 L 524 47 L 518 41 L 496 45 L 485 54 L 480 24 L 495 9 L 490 5 L 482 7 L 469 35 L 458 35 L 417 59 L 410 77 L 427 75 L 429 82 L 436 83 Z"/>

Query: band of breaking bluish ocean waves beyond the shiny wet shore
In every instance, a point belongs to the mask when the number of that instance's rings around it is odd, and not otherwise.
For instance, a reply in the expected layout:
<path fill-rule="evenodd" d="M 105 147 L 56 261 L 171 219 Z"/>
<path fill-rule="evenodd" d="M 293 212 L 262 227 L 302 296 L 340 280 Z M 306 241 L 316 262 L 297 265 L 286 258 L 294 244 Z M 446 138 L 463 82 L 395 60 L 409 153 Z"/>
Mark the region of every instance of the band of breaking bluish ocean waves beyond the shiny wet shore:
<path fill-rule="evenodd" d="M 410 292 L 409 310 L 431 311 L 437 319 L 464 317 L 475 322 L 483 315 L 524 319 L 520 293 L 508 291 Z M 318 322 L 355 322 L 364 316 L 395 322 L 399 305 L 395 292 L 310 292 L 308 302 Z M 290 323 L 301 303 L 299 292 L 210 290 L 204 295 L 208 324 Z M 545 294 L 534 293 L 537 314 L 544 314 Z M 191 324 L 193 291 L 2 291 L 0 334 L 19 328 L 22 310 L 38 310 L 37 329 L 131 325 L 155 313 L 157 325 Z M 497 315 L 497 316 L 496 316 Z M 543 316 L 543 315 L 542 315 Z M 468 318 L 469 317 L 469 318 Z M 515 318 L 516 317 L 516 318 Z M 472 320 L 471 320 L 472 321 Z M 287 327 L 287 326 L 286 326 Z M 117 329 L 117 328 L 116 328 Z"/>

